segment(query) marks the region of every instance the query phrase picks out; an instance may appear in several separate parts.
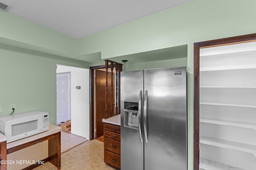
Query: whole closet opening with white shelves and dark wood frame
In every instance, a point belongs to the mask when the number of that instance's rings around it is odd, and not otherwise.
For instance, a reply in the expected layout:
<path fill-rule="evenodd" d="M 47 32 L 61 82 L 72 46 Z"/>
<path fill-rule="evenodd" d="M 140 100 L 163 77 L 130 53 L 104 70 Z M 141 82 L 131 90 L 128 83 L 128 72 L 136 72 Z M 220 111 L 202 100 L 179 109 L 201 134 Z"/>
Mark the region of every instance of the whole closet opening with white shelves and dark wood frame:
<path fill-rule="evenodd" d="M 256 168 L 256 33 L 194 43 L 194 170 Z"/>

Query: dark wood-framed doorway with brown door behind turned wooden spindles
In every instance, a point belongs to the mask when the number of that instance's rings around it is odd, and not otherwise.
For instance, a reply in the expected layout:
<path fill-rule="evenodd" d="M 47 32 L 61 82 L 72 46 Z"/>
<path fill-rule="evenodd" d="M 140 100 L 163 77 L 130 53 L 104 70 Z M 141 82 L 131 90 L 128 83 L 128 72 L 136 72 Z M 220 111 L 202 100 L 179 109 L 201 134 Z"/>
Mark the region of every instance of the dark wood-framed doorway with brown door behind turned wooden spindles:
<path fill-rule="evenodd" d="M 122 64 L 105 61 L 106 64 L 103 66 L 90 67 L 90 140 L 103 135 L 104 123 L 102 119 L 120 113 Z M 106 72 L 106 68 L 108 68 L 108 72 Z M 106 78 L 108 79 L 107 82 Z"/>

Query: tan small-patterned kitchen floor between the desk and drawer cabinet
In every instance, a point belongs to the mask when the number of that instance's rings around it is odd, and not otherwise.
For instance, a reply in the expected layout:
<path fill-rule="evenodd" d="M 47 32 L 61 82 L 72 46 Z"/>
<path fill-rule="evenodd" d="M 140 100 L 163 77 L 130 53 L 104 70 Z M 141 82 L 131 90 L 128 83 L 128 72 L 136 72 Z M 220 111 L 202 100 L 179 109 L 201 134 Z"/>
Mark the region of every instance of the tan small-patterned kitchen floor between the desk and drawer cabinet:
<path fill-rule="evenodd" d="M 50 162 L 34 168 L 34 170 L 56 170 Z M 61 154 L 61 170 L 116 170 L 104 163 L 104 143 L 86 141 Z"/>

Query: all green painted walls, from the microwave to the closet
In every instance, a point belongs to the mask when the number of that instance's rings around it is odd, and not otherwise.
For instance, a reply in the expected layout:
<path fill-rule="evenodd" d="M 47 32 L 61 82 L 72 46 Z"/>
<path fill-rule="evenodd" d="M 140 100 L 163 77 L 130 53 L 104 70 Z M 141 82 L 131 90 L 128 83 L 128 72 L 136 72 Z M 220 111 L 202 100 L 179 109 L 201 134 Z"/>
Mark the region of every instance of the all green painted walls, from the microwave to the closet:
<path fill-rule="evenodd" d="M 163 67 L 178 66 L 187 62 L 188 170 L 192 170 L 193 43 L 255 33 L 255 6 L 255 0 L 192 0 L 80 39 L 68 37 L 0 10 L 1 23 L 5 23 L 0 25 L 0 43 L 33 50 L 32 54 L 27 54 L 17 51 L 16 47 L 1 47 L 0 104 L 5 112 L 6 105 L 14 102 L 20 112 L 33 109 L 48 111 L 49 109 L 53 119 L 56 111 L 55 64 L 89 66 L 88 63 L 67 61 L 60 56 L 74 59 L 88 57 L 90 65 L 99 65 L 104 64 L 99 57 L 111 60 L 112 57 L 187 44 L 186 59 L 174 59 L 168 62 L 156 59 L 152 62 L 127 64 L 126 68 L 135 70 L 161 65 Z M 52 55 L 57 57 L 54 58 Z M 173 64 L 172 61 L 180 63 Z M 42 65 L 37 66 L 37 64 Z M 27 76 L 24 76 L 24 73 Z M 38 75 L 43 80 L 39 80 Z M 37 80 L 36 83 L 32 79 Z M 37 97 L 30 99 L 34 96 Z M 43 99 L 40 99 L 41 96 Z M 14 99 L 17 101 L 13 101 Z"/>

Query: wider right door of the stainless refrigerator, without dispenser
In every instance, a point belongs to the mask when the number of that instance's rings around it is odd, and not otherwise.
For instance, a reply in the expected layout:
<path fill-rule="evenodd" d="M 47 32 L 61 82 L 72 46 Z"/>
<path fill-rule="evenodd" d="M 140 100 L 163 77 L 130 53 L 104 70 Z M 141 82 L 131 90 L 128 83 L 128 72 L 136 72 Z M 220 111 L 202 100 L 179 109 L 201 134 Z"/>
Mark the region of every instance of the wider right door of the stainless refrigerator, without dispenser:
<path fill-rule="evenodd" d="M 145 170 L 187 169 L 186 84 L 186 67 L 144 70 Z"/>

